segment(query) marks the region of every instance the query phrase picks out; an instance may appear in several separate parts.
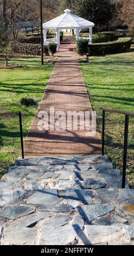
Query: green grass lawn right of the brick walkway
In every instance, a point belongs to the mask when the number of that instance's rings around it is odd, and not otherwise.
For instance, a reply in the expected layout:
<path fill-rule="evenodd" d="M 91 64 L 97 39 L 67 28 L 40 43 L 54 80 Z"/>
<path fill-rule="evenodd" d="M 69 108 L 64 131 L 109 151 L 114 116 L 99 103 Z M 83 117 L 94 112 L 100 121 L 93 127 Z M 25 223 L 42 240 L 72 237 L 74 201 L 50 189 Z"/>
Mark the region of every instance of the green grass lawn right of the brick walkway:
<path fill-rule="evenodd" d="M 81 63 L 86 89 L 101 133 L 101 107 L 134 112 L 134 52 L 90 57 Z M 127 178 L 134 185 L 134 118 L 130 118 Z M 124 115 L 106 113 L 106 154 L 122 170 Z"/>

